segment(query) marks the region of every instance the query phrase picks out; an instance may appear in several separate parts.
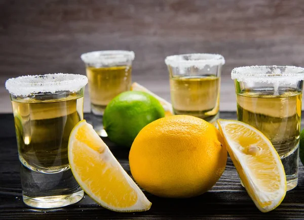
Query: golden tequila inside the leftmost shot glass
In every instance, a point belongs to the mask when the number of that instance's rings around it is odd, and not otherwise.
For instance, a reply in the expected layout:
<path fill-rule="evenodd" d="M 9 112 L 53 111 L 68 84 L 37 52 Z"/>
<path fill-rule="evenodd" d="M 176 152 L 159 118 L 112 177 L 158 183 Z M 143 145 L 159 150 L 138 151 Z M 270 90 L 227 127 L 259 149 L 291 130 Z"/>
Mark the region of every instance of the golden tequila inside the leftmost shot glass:
<path fill-rule="evenodd" d="M 69 168 L 67 145 L 83 119 L 83 95 L 40 95 L 12 99 L 20 161 L 28 168 L 54 173 Z"/>

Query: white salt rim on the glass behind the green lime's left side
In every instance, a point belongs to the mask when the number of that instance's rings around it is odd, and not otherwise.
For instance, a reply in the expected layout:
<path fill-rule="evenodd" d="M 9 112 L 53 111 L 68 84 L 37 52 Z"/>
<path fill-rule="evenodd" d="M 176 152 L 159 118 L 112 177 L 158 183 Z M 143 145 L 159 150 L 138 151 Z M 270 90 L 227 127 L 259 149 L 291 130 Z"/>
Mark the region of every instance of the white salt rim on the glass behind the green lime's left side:
<path fill-rule="evenodd" d="M 113 65 L 133 61 L 135 54 L 133 51 L 93 51 L 81 55 L 81 59 L 86 64 Z"/>

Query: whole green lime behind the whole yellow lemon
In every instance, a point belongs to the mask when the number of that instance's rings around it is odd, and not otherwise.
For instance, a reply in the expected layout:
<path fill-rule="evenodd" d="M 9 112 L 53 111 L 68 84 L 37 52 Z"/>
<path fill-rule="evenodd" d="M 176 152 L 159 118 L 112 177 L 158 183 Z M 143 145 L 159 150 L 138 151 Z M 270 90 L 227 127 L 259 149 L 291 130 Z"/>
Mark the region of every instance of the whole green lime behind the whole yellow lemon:
<path fill-rule="evenodd" d="M 112 142 L 131 147 L 145 125 L 164 116 L 165 110 L 156 98 L 144 92 L 128 91 L 108 103 L 103 126 Z"/>

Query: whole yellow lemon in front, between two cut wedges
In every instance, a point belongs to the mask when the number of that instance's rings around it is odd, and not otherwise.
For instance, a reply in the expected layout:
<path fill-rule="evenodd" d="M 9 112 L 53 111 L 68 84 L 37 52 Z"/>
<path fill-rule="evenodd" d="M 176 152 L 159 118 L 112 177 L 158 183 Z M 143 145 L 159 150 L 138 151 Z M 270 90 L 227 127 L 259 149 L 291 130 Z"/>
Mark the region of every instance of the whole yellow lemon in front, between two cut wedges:
<path fill-rule="evenodd" d="M 149 123 L 137 135 L 129 154 L 131 173 L 139 186 L 171 198 L 198 196 L 211 189 L 226 160 L 219 131 L 188 115 Z"/>

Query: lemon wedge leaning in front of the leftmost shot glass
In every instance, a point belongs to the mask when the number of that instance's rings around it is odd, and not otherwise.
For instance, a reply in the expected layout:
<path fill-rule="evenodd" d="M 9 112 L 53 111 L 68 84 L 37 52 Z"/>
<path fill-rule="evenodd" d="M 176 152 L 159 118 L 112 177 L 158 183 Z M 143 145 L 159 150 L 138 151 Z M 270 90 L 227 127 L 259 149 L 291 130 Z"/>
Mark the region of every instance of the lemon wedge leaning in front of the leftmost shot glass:
<path fill-rule="evenodd" d="M 121 212 L 150 208 L 151 203 L 85 120 L 71 132 L 68 160 L 81 188 L 101 206 Z"/>

